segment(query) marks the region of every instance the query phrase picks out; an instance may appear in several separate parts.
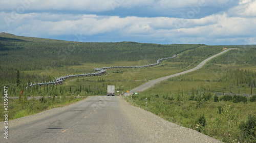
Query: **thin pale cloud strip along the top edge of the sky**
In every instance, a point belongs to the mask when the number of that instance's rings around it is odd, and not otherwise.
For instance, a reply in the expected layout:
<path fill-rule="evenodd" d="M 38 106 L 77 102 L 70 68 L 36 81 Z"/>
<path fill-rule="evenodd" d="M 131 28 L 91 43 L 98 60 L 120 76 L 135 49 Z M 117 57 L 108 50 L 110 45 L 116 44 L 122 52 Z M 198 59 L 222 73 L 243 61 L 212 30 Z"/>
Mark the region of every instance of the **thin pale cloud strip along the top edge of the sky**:
<path fill-rule="evenodd" d="M 243 0 L 248 1 L 248 0 Z M 113 11 L 117 8 L 134 9 L 141 7 L 151 7 L 156 11 L 169 11 L 169 9 L 180 9 L 190 7 L 225 7 L 232 3 L 231 0 L 13 0 L 0 1 L 2 11 L 81 11 L 81 12 L 104 12 Z M 241 2 L 243 3 L 243 2 Z"/>

